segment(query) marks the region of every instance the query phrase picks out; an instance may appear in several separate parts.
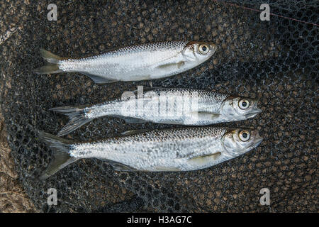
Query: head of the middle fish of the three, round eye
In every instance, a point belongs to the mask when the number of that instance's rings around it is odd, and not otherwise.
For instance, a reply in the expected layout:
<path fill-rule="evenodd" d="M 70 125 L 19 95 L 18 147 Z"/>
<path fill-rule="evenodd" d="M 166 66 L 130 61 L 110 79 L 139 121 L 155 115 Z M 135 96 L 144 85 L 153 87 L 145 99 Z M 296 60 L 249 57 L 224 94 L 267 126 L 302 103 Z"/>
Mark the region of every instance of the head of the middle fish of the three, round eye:
<path fill-rule="evenodd" d="M 262 110 L 257 107 L 258 100 L 244 96 L 231 96 L 220 105 L 219 113 L 229 120 L 246 120 L 254 118 Z"/>

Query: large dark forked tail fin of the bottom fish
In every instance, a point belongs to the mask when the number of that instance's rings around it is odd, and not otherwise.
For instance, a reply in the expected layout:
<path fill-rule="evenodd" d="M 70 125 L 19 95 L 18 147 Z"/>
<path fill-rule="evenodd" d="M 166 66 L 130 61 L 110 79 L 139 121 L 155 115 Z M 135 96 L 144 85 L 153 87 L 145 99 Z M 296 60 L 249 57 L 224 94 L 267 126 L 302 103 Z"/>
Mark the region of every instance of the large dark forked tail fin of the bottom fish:
<path fill-rule="evenodd" d="M 69 155 L 72 140 L 65 140 L 42 131 L 40 131 L 39 137 L 50 146 L 53 154 L 53 160 L 50 162 L 47 169 L 40 175 L 40 180 L 47 179 L 47 177 L 54 175 L 57 171 L 62 170 L 67 165 L 78 160 L 76 157 L 71 157 Z"/>

